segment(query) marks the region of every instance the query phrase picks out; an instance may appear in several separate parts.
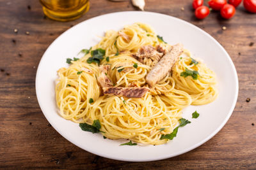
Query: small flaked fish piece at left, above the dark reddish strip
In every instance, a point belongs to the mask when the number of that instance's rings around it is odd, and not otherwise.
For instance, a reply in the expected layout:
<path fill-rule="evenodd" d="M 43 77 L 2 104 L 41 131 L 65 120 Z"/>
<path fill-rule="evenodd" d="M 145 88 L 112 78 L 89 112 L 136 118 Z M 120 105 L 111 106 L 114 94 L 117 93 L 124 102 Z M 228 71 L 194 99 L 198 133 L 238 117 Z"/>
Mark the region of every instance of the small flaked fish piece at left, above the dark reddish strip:
<path fill-rule="evenodd" d="M 97 80 L 98 80 L 100 86 L 101 87 L 112 87 L 113 83 L 107 76 L 110 66 L 109 65 L 101 65 L 99 67 L 99 69 L 100 69 L 100 75 L 97 78 Z"/>

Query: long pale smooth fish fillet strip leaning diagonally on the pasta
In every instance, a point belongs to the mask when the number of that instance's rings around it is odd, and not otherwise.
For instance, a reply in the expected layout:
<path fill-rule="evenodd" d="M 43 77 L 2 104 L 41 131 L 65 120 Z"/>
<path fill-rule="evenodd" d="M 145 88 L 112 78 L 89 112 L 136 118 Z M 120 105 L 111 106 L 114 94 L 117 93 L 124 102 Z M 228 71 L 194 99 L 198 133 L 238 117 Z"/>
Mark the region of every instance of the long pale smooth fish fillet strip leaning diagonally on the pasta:
<path fill-rule="evenodd" d="M 154 86 L 159 80 L 162 80 L 166 74 L 170 73 L 173 65 L 179 59 L 183 52 L 183 45 L 178 43 L 166 52 L 156 66 L 154 66 L 147 74 L 146 81 L 150 87 Z"/>

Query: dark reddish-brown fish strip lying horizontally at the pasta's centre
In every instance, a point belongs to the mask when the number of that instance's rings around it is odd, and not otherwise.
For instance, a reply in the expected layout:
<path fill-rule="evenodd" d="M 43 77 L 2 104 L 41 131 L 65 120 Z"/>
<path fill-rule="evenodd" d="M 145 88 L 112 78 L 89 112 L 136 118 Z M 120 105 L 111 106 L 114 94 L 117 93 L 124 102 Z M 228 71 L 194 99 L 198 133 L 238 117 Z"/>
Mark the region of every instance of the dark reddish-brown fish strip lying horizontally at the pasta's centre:
<path fill-rule="evenodd" d="M 147 87 L 103 87 L 103 94 L 141 98 L 148 92 Z"/>

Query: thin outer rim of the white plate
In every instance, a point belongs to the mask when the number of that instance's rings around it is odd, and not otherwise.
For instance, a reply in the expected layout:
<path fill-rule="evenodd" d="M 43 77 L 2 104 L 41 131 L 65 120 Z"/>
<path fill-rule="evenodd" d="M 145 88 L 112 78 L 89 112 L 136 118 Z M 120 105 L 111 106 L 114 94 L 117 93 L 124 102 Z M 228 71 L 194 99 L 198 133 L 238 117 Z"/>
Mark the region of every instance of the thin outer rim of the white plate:
<path fill-rule="evenodd" d="M 163 17 L 170 17 L 172 18 L 173 20 L 178 20 L 179 22 L 183 22 L 184 24 L 188 24 L 189 26 L 191 27 L 194 27 L 195 29 L 197 29 L 198 31 L 202 32 L 202 34 L 205 34 L 206 36 L 208 36 L 209 38 L 212 39 L 212 41 L 214 41 L 214 43 L 216 43 L 216 45 L 218 45 L 221 50 L 225 53 L 225 55 L 227 55 L 228 57 L 228 60 L 230 62 L 230 65 L 232 67 L 232 70 L 235 74 L 234 78 L 235 78 L 235 81 L 236 81 L 236 94 L 235 94 L 235 97 L 232 101 L 232 106 L 230 107 L 230 110 L 227 114 L 227 117 L 225 117 L 225 119 L 223 120 L 223 122 L 221 123 L 221 125 L 215 129 L 211 134 L 209 134 L 209 136 L 207 136 L 207 138 L 203 139 L 202 141 L 200 141 L 199 143 L 196 143 L 196 145 L 193 145 L 189 148 L 186 148 L 185 150 L 182 150 L 180 152 L 177 152 L 173 155 L 163 155 L 162 157 L 157 157 L 156 159 L 154 158 L 148 158 L 148 159 L 140 159 L 140 160 L 136 160 L 136 159 L 132 159 L 132 158 L 127 158 L 127 159 L 123 159 L 122 157 L 121 158 L 117 158 L 117 157 L 113 157 L 111 156 L 110 154 L 109 155 L 106 155 L 104 153 L 100 153 L 100 152 L 95 152 L 94 150 L 90 149 L 90 148 L 86 148 L 84 149 L 83 146 L 79 145 L 78 143 L 76 143 L 76 141 L 73 141 L 72 139 L 68 138 L 67 135 L 63 134 L 61 132 L 60 129 L 58 129 L 58 127 L 56 127 L 56 125 L 54 125 L 53 120 L 51 120 L 51 118 L 49 118 L 47 115 L 45 115 L 45 111 L 44 111 L 44 108 L 42 107 L 42 101 L 40 101 L 40 98 L 38 97 L 38 81 L 39 81 L 39 78 L 38 78 L 38 74 L 40 72 L 40 69 L 41 69 L 41 66 L 42 66 L 42 60 L 44 59 L 44 55 L 45 53 L 47 53 L 47 51 L 49 50 L 49 48 L 51 48 L 51 46 L 54 44 L 54 42 L 56 42 L 61 36 L 63 36 L 63 34 L 66 34 L 68 31 L 70 31 L 72 28 L 74 27 L 78 27 L 79 25 L 83 24 L 84 22 L 88 22 L 90 20 L 94 20 L 96 18 L 100 18 L 100 17 L 105 17 L 107 15 L 118 15 L 120 13 L 138 13 L 138 15 L 140 15 L 140 13 L 148 13 L 148 14 L 152 14 L 152 15 L 159 15 L 160 17 L 163 16 Z M 101 157 L 106 157 L 108 159 L 113 159 L 113 160 L 122 160 L 122 161 L 129 161 L 129 162 L 148 162 L 148 161 L 154 161 L 154 160 L 163 160 L 163 159 L 168 159 L 168 158 L 171 158 L 171 157 L 176 157 L 177 155 L 181 155 L 183 153 L 186 153 L 186 152 L 189 152 L 195 148 L 197 148 L 198 146 L 201 146 L 203 145 L 204 143 L 206 143 L 207 141 L 209 141 L 209 139 L 211 139 L 213 136 L 215 136 L 218 132 L 220 132 L 220 130 L 224 127 L 224 125 L 227 123 L 228 119 L 231 117 L 232 113 L 234 112 L 234 108 L 236 107 L 236 103 L 237 103 L 237 97 L 238 97 L 238 93 L 239 93 L 239 80 L 238 80 L 238 75 L 237 75 L 237 71 L 236 71 L 236 67 L 234 65 L 234 62 L 232 61 L 230 55 L 228 55 L 228 52 L 225 50 L 225 48 L 216 40 L 214 39 L 209 33 L 205 32 L 203 29 L 200 29 L 199 27 L 197 27 L 196 25 L 193 25 L 185 20 L 182 20 L 180 18 L 176 18 L 176 17 L 172 17 L 170 15 L 166 15 L 166 14 L 163 14 L 163 13 L 156 13 L 156 12 L 151 12 L 151 11 L 118 11 L 118 12 L 113 12 L 113 13 L 106 13 L 106 14 L 103 14 L 103 15 L 99 15 L 99 16 L 96 16 L 96 17 L 92 17 L 92 18 L 89 18 L 87 20 L 83 20 L 82 22 L 79 22 L 78 24 L 74 25 L 73 27 L 67 29 L 67 31 L 63 32 L 60 34 L 60 36 L 58 36 L 58 38 L 54 39 L 54 41 L 52 41 L 51 45 L 49 45 L 47 47 L 47 50 L 45 50 L 44 54 L 42 55 L 42 58 L 40 59 L 40 62 L 38 64 L 38 67 L 37 67 L 37 70 L 36 70 L 36 78 L 35 78 L 35 89 L 36 89 L 36 98 L 37 98 L 37 101 L 38 101 L 38 104 L 40 106 L 40 109 L 42 110 L 42 113 L 44 114 L 45 118 L 47 119 L 47 121 L 52 125 L 52 127 L 61 135 L 63 136 L 63 138 L 67 139 L 67 141 L 69 141 L 70 143 L 72 143 L 73 145 L 76 145 L 78 146 L 79 148 L 85 150 L 86 152 L 90 152 L 90 153 L 93 153 L 95 155 L 99 155 Z"/>

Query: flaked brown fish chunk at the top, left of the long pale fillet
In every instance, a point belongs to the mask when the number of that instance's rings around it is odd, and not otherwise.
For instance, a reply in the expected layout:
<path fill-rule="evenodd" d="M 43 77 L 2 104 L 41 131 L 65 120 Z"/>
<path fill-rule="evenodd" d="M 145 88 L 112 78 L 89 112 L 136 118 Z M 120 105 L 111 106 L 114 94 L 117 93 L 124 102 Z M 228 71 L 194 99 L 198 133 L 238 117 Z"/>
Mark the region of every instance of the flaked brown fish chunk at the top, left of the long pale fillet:
<path fill-rule="evenodd" d="M 159 48 L 160 49 L 160 48 Z M 163 49 L 161 49 L 163 50 Z M 158 52 L 152 45 L 141 46 L 141 48 L 132 57 L 143 64 L 154 66 L 163 57 L 163 52 Z"/>

